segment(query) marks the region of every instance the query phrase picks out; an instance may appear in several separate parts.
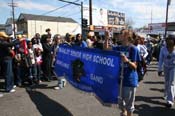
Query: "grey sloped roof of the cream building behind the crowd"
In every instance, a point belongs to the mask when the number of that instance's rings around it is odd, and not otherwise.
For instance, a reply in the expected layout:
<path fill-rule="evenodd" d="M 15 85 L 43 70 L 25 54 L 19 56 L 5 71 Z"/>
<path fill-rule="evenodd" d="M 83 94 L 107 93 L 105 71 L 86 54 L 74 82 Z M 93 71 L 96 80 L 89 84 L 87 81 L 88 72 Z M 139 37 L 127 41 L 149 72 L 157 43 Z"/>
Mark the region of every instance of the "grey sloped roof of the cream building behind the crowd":
<path fill-rule="evenodd" d="M 44 15 L 34 15 L 34 14 L 24 14 L 21 13 L 18 20 L 39 20 L 39 21 L 52 21 L 52 22 L 71 22 L 77 23 L 72 18 L 65 18 L 65 17 L 53 17 L 53 16 L 44 16 Z"/>

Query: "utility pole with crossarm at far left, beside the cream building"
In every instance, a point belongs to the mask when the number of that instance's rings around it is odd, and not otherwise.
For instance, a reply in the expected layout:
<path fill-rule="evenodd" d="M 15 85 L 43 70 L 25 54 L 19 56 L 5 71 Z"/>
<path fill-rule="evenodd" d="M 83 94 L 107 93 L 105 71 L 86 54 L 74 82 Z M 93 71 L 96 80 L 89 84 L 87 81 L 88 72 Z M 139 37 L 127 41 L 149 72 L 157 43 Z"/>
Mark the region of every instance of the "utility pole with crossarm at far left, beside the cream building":
<path fill-rule="evenodd" d="M 9 6 L 12 7 L 12 21 L 13 21 L 13 36 L 14 38 L 16 38 L 16 26 L 15 26 L 15 7 L 17 7 L 17 4 L 14 3 L 14 1 L 12 0 L 11 3 L 9 3 Z"/>

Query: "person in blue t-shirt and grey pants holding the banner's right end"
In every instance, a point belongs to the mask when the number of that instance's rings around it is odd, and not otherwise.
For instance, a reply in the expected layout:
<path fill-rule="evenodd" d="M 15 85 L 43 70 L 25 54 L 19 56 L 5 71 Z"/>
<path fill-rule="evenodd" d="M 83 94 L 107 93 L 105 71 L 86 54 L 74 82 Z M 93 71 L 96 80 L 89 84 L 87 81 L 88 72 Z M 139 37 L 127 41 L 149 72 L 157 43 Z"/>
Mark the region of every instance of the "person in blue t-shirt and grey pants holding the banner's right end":
<path fill-rule="evenodd" d="M 121 116 L 132 116 L 134 112 L 134 102 L 136 88 L 138 85 L 137 62 L 140 61 L 138 49 L 132 45 L 133 32 L 129 30 L 121 31 L 122 45 L 117 46 L 117 51 L 121 52 L 121 60 L 123 64 L 122 84 L 120 88 L 119 107 L 121 108 Z M 108 36 L 108 33 L 106 33 Z M 108 39 L 108 37 L 107 37 Z M 107 40 L 108 41 L 108 40 Z M 108 47 L 107 41 L 105 47 Z M 130 52 L 132 54 L 130 54 Z"/>

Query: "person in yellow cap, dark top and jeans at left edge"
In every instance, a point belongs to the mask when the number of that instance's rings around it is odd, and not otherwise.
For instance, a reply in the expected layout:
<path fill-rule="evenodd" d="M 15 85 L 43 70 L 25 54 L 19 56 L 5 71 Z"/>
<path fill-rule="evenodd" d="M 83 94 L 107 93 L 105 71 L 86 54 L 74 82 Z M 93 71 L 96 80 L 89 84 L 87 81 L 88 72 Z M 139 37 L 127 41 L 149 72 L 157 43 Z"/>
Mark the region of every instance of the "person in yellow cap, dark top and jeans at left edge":
<path fill-rule="evenodd" d="M 12 70 L 12 47 L 19 44 L 19 41 L 9 42 L 9 36 L 0 32 L 0 65 L 5 78 L 5 90 L 15 92 L 14 75 Z"/>

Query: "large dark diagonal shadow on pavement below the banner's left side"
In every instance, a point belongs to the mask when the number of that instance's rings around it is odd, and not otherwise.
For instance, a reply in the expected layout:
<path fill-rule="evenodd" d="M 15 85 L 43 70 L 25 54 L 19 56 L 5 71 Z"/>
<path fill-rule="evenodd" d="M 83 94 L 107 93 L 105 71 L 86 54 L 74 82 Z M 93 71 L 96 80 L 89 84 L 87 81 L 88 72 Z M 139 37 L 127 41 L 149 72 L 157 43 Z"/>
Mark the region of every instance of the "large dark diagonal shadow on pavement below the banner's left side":
<path fill-rule="evenodd" d="M 39 91 L 27 90 L 41 116 L 73 116 L 64 106 Z"/>

